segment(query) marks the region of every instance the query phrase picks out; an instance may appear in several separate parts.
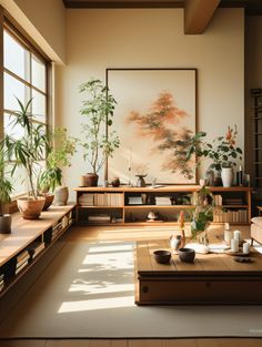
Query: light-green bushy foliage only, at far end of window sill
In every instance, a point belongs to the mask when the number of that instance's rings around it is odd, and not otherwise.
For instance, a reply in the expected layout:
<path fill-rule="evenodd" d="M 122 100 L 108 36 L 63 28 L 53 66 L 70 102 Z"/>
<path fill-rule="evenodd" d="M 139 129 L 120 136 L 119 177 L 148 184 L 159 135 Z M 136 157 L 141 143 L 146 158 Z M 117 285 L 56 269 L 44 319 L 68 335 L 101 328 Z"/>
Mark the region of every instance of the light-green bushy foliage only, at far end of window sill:
<path fill-rule="evenodd" d="M 75 143 L 77 140 L 68 135 L 66 127 L 58 127 L 49 135 L 47 167 L 39 176 L 39 188 L 42 192 L 53 192 L 57 186 L 62 185 L 62 167 L 71 165 Z"/>

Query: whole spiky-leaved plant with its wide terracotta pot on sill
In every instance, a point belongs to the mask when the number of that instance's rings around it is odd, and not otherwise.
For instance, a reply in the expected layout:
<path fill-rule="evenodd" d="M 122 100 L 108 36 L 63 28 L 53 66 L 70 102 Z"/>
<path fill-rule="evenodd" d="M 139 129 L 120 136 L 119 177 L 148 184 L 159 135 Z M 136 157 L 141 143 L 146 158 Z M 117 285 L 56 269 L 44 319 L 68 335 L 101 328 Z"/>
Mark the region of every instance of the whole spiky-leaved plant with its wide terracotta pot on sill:
<path fill-rule="evenodd" d="M 18 208 L 24 220 L 37 220 L 46 201 L 38 195 L 37 169 L 39 162 L 44 160 L 48 137 L 44 125 L 34 122 L 34 115 L 30 111 L 32 99 L 26 105 L 19 99 L 17 101 L 20 110 L 13 112 L 12 126 L 19 125 L 23 130 L 23 135 L 19 140 L 7 135 L 4 143 L 10 162 L 14 161 L 11 174 L 14 174 L 17 167 L 24 169 L 28 196 L 17 200 Z"/>

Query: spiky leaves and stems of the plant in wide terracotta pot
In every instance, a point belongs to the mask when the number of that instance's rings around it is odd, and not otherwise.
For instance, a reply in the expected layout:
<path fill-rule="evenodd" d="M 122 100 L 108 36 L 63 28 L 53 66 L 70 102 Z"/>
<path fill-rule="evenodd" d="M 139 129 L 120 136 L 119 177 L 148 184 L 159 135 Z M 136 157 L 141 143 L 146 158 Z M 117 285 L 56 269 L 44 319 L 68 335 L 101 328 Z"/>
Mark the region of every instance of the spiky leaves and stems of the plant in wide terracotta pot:
<path fill-rule="evenodd" d="M 26 169 L 28 182 L 28 196 L 38 198 L 37 190 L 37 166 L 38 162 L 43 161 L 48 144 L 46 126 L 34 122 L 34 115 L 31 113 L 32 99 L 22 104 L 17 98 L 19 110 L 13 112 L 14 120 L 12 127 L 20 125 L 23 129 L 23 136 L 19 140 L 12 136 L 4 137 L 4 145 L 9 161 L 14 161 L 11 174 L 13 175 L 18 166 Z"/>

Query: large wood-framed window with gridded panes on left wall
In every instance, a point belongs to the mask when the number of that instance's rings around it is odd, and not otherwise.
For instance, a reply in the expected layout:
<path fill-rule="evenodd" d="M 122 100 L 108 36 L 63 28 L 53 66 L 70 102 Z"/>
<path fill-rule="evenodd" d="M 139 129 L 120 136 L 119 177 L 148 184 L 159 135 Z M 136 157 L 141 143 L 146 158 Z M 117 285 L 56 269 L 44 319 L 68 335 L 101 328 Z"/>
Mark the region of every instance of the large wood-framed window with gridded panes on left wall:
<path fill-rule="evenodd" d="M 22 136 L 20 126 L 12 126 L 19 109 L 18 98 L 23 104 L 32 99 L 31 112 L 36 122 L 48 126 L 48 62 L 17 30 L 9 24 L 3 28 L 3 132 L 14 139 Z M 40 170 L 44 163 L 39 163 Z M 7 172 L 10 170 L 7 169 Z M 12 178 L 14 195 L 27 191 L 22 169 Z"/>

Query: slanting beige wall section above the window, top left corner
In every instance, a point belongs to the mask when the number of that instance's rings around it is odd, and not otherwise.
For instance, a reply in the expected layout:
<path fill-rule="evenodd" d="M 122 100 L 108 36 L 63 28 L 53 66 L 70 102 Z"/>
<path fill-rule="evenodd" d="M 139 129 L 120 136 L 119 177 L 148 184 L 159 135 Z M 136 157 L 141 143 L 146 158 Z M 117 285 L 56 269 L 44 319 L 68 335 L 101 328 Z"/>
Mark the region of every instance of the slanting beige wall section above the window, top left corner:
<path fill-rule="evenodd" d="M 62 0 L 0 0 L 0 4 L 51 60 L 66 62 L 66 9 Z"/>

